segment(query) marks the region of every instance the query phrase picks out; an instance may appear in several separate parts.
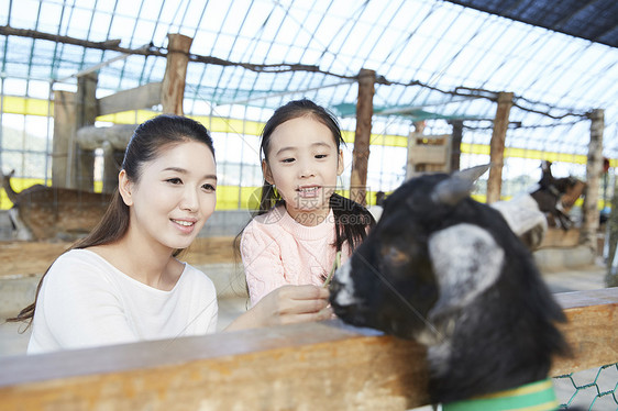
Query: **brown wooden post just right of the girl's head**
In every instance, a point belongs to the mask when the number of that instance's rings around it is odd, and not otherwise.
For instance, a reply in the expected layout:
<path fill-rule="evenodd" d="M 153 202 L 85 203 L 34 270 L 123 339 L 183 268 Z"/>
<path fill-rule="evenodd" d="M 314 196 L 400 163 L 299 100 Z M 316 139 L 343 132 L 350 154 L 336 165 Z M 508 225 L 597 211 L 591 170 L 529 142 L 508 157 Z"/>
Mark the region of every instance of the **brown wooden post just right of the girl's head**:
<path fill-rule="evenodd" d="M 361 69 L 358 74 L 358 101 L 356 102 L 356 133 L 352 151 L 350 198 L 366 204 L 367 163 L 374 114 L 375 71 Z"/>

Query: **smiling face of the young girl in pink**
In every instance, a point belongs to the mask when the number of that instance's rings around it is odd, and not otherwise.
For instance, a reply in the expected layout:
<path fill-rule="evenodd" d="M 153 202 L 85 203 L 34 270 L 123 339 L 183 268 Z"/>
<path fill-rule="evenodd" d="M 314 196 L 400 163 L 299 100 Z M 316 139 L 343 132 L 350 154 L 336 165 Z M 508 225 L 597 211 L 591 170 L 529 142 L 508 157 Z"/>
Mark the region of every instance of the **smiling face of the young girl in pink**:
<path fill-rule="evenodd" d="M 279 191 L 287 212 L 304 225 L 323 221 L 343 173 L 343 152 L 329 127 L 311 115 L 288 120 L 271 134 L 266 158 L 264 177 Z"/>

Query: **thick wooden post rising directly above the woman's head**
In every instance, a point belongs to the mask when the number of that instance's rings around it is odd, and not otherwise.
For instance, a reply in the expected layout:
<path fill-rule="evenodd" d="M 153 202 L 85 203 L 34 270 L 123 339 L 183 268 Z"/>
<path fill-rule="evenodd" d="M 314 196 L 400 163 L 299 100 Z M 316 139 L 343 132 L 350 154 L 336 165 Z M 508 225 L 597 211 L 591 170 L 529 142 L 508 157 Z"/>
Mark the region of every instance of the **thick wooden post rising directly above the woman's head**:
<path fill-rule="evenodd" d="M 161 88 L 161 102 L 164 113 L 183 115 L 185 78 L 194 40 L 181 34 L 167 34 L 167 65 Z"/>

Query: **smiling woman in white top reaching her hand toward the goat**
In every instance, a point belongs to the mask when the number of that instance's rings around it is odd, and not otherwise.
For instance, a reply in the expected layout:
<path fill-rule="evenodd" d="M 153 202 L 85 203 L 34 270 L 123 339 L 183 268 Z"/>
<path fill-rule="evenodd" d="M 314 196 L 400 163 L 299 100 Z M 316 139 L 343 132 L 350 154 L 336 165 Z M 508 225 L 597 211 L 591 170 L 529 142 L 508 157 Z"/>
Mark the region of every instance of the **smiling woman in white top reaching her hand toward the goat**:
<path fill-rule="evenodd" d="M 214 332 L 217 293 L 175 256 L 216 204 L 212 140 L 196 121 L 159 115 L 134 132 L 119 187 L 99 225 L 59 256 L 33 304 L 29 354 Z M 229 330 L 329 318 L 328 292 L 288 287 Z"/>

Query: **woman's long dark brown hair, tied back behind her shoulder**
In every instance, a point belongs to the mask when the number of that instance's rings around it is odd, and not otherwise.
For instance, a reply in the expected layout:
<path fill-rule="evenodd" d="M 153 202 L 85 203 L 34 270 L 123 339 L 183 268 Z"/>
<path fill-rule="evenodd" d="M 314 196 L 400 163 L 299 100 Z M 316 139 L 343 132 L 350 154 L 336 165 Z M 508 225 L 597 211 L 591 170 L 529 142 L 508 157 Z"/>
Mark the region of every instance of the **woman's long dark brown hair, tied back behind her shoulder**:
<path fill-rule="evenodd" d="M 145 163 L 155 159 L 164 149 L 169 148 L 170 145 L 191 141 L 206 144 L 214 156 L 212 138 L 203 125 L 181 115 L 157 115 L 135 129 L 124 152 L 121 169 L 126 173 L 129 180 L 137 182 Z M 130 209 L 122 200 L 117 188 L 99 224 L 86 237 L 74 243 L 66 252 L 119 241 L 129 230 L 129 215 Z M 180 252 L 181 249 L 176 249 L 174 255 L 176 256 Z M 26 321 L 29 326 L 32 324 L 38 291 L 48 271 L 49 268 L 45 270 L 38 281 L 34 302 L 21 310 L 16 316 L 7 319 L 8 322 Z"/>

